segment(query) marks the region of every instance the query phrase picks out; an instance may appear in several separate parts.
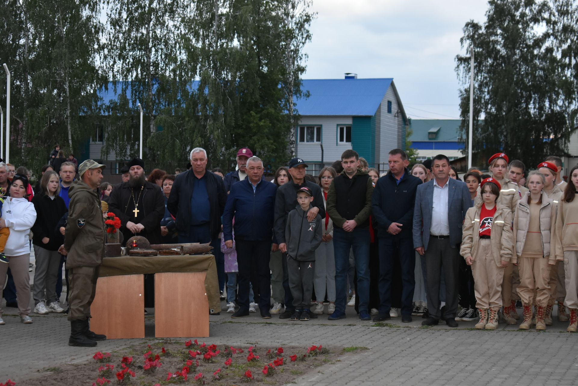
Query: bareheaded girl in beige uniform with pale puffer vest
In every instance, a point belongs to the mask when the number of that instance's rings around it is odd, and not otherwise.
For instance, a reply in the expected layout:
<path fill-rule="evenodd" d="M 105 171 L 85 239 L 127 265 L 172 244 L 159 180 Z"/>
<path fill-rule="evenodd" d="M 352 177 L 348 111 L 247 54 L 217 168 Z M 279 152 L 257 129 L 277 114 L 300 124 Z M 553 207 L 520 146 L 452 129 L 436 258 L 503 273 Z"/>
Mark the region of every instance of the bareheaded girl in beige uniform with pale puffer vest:
<path fill-rule="evenodd" d="M 536 293 L 536 330 L 545 330 L 546 307 L 550 299 L 550 270 L 555 265 L 556 206 L 543 192 L 546 177 L 540 172 L 528 176 L 530 194 L 524 195 L 514 216 L 514 263 L 520 268 L 518 294 L 524 306 L 520 329 L 532 325 L 532 299 Z"/>

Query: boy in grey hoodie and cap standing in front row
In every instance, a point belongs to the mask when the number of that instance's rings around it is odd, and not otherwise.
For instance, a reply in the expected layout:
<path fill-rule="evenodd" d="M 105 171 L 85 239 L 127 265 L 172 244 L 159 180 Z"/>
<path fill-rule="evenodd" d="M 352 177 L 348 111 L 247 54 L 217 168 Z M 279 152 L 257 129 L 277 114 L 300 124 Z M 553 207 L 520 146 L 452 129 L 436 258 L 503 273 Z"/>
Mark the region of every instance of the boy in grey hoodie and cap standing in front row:
<path fill-rule="evenodd" d="M 313 276 L 315 273 L 315 250 L 321 244 L 323 228 L 321 216 L 313 221 L 307 221 L 307 211 L 313 202 L 313 192 L 302 187 L 297 191 L 297 203 L 287 217 L 285 239 L 287 242 L 287 270 L 289 287 L 293 295 L 295 313 L 291 320 L 309 320 L 317 315 L 309 310 L 313 292 Z"/>

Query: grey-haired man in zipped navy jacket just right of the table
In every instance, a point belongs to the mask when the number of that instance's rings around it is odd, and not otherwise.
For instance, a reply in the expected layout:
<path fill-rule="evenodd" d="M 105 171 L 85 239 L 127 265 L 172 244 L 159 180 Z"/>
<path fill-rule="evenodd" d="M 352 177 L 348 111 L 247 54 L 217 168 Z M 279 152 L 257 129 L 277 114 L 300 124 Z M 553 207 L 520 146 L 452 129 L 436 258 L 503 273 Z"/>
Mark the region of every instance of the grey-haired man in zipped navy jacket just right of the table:
<path fill-rule="evenodd" d="M 247 178 L 231 186 L 223 212 L 223 237 L 227 248 L 235 247 L 239 273 L 239 310 L 232 318 L 249 316 L 249 281 L 259 295 L 261 317 L 271 318 L 271 277 L 269 257 L 273 236 L 273 214 L 277 185 L 262 180 L 263 162 L 258 157 L 247 159 Z"/>

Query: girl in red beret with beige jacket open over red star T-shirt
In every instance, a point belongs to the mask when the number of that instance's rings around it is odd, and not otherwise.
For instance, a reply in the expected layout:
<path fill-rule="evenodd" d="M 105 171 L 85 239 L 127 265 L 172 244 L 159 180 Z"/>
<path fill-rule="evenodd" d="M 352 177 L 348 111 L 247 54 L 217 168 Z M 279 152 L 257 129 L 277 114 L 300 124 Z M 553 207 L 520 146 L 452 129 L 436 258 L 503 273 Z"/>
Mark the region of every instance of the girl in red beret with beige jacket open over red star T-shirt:
<path fill-rule="evenodd" d="M 460 254 L 472 266 L 480 313 L 476 328 L 495 330 L 502 307 L 502 277 L 513 258 L 512 211 L 498 205 L 501 186 L 495 179 L 487 178 L 480 186 L 483 202 L 466 213 Z"/>

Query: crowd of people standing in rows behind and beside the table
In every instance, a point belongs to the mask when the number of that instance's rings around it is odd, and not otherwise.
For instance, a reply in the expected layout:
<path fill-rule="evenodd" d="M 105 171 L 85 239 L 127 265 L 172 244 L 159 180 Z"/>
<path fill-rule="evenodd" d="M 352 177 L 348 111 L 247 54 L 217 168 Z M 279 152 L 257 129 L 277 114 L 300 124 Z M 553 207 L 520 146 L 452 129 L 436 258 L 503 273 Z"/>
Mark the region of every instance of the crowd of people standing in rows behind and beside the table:
<path fill-rule="evenodd" d="M 472 168 L 462 181 L 443 154 L 409 169 L 405 151 L 391 150 L 380 176 L 346 150 L 317 178 L 293 158 L 269 181 L 250 149 L 239 149 L 236 170 L 226 173 L 208 170 L 208 154 L 195 148 L 186 171 L 146 175 L 135 158 L 116 185 L 92 173 L 104 165 L 75 161 L 55 148 L 35 188 L 27 169 L 0 163 L 0 288 L 7 284 L 6 305 L 17 306 L 24 323 L 32 322 L 30 244 L 34 312 L 90 318 L 90 291 L 81 302 L 88 311 L 69 310 L 69 299 L 61 305 L 71 235 L 89 228 L 84 204 L 69 214 L 71 194 L 86 191 L 90 200 L 95 193 L 99 212 L 120 218 L 123 245 L 134 235 L 151 244 L 210 243 L 232 318 L 258 310 L 262 318 L 307 321 L 327 313 L 339 320 L 351 306 L 364 321 L 421 316 L 424 325 L 477 320 L 476 328 L 495 329 L 499 321 L 518 324 L 521 308 L 520 328 L 543 330 L 557 303 L 558 320 L 577 331 L 578 166 L 566 183 L 558 157 L 529 171 L 497 153 L 489 174 Z M 84 246 L 88 253 L 97 247 Z M 98 256 L 92 263 L 97 277 Z M 79 277 L 79 264 L 66 261 L 67 283 L 69 273 Z M 146 275 L 145 307 L 154 307 L 153 284 Z M 79 324 L 74 342 L 94 336 Z"/>

